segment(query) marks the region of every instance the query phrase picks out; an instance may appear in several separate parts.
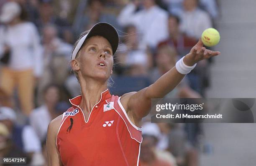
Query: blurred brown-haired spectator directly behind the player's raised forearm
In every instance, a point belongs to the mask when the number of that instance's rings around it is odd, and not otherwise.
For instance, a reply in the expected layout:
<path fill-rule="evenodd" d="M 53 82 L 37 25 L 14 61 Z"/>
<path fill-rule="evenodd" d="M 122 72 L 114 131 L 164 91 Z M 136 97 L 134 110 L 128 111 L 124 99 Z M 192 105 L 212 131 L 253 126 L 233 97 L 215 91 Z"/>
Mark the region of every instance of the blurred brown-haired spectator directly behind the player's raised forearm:
<path fill-rule="evenodd" d="M 167 71 L 175 66 L 177 61 L 177 52 L 174 48 L 169 46 L 162 46 L 156 53 L 156 68 L 151 72 L 151 81 L 155 82 L 161 75 L 164 75 Z M 188 86 L 188 81 L 185 77 L 182 82 L 174 88 L 173 91 L 168 93 L 165 98 L 200 98 L 201 96 L 193 91 Z"/>

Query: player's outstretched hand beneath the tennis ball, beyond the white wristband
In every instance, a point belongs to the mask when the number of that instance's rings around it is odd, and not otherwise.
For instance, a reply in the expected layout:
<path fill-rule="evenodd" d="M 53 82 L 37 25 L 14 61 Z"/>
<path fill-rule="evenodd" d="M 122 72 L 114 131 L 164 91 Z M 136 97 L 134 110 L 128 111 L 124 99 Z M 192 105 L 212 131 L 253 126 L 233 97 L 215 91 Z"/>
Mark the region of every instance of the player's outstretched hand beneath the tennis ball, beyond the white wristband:
<path fill-rule="evenodd" d="M 216 55 L 220 55 L 220 51 L 212 51 L 206 49 L 200 38 L 197 44 L 190 50 L 190 52 L 184 57 L 183 60 L 186 65 L 193 66 L 200 60 L 208 59 Z"/>

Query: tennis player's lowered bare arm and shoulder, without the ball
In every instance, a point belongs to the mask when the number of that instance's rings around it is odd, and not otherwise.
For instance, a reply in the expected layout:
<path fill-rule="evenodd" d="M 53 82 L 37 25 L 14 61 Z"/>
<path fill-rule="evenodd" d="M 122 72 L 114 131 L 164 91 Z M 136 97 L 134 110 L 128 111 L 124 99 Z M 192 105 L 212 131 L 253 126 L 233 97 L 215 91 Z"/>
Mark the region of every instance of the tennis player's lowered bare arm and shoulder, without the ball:
<path fill-rule="evenodd" d="M 59 131 L 59 126 L 61 125 L 61 118 L 62 115 L 58 116 L 52 120 L 48 126 L 46 139 L 48 166 L 62 166 L 61 158 L 56 147 L 56 137 Z"/>

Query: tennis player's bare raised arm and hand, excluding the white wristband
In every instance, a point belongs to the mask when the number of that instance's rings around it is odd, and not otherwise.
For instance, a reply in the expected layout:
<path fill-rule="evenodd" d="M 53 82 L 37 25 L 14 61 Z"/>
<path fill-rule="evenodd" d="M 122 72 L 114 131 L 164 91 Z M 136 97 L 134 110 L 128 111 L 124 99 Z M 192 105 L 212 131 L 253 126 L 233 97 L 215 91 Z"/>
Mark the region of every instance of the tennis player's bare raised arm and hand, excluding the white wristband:
<path fill-rule="evenodd" d="M 203 47 L 202 41 L 199 40 L 191 51 L 184 57 L 183 62 L 187 66 L 193 66 L 200 60 L 208 59 L 219 54 L 219 51 L 207 50 Z M 124 94 L 120 101 L 131 121 L 137 126 L 141 126 L 141 119 L 150 111 L 151 98 L 164 97 L 179 84 L 184 76 L 184 74 L 178 72 L 176 67 L 173 67 L 156 80 L 156 82 L 151 86 L 148 86 L 138 92 Z"/>

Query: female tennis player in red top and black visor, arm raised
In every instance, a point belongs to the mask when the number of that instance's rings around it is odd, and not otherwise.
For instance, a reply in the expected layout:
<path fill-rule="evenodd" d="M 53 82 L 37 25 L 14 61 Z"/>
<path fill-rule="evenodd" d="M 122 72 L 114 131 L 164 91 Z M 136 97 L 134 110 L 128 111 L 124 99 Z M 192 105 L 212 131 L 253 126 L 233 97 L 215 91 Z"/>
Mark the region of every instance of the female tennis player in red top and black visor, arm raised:
<path fill-rule="evenodd" d="M 141 119 L 150 110 L 151 98 L 164 97 L 198 61 L 220 54 L 199 40 L 154 84 L 118 97 L 108 91 L 118 43 L 112 25 L 97 23 L 75 44 L 71 67 L 82 95 L 70 99 L 72 107 L 49 124 L 48 166 L 139 166 Z"/>

